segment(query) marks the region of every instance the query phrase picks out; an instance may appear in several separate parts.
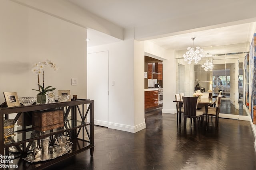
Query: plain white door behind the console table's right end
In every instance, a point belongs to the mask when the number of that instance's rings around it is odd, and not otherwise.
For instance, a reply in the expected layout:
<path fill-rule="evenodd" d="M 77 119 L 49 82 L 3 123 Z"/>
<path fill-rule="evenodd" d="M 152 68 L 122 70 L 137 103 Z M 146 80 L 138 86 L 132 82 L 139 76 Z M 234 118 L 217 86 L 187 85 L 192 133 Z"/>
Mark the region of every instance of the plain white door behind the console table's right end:
<path fill-rule="evenodd" d="M 94 124 L 108 127 L 108 51 L 88 54 L 88 99 L 94 100 Z"/>

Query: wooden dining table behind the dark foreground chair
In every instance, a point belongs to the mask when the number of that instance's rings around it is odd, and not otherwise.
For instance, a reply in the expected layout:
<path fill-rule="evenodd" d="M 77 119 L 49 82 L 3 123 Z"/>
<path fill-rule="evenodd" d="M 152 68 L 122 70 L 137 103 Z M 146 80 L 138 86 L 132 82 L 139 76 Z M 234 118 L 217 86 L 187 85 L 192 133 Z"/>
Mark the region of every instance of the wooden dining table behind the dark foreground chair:
<path fill-rule="evenodd" d="M 182 99 L 180 100 L 174 100 L 173 102 L 178 102 L 179 103 L 179 122 L 181 121 L 181 108 L 182 108 Z M 206 129 L 207 129 L 207 124 L 208 124 L 208 107 L 212 106 L 213 104 L 216 103 L 216 98 L 198 98 L 197 100 L 197 105 L 199 106 L 204 106 L 205 107 L 205 115 L 206 115 Z M 177 113 L 178 114 L 178 113 Z"/>

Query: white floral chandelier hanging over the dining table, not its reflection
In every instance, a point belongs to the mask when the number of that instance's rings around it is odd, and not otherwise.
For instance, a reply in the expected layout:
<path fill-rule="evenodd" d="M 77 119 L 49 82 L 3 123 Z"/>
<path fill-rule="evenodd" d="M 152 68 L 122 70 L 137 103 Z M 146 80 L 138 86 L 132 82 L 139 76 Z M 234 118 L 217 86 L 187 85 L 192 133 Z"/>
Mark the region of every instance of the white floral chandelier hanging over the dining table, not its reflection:
<path fill-rule="evenodd" d="M 188 64 L 191 64 L 191 62 L 194 60 L 195 64 L 198 63 L 198 61 L 201 60 L 201 58 L 203 57 L 202 53 L 204 50 L 200 49 L 200 47 L 196 47 L 196 49 L 194 49 L 194 40 L 196 37 L 192 37 L 191 39 L 193 40 L 193 47 L 188 47 L 188 51 L 186 52 L 186 54 L 183 55 L 184 61 L 187 61 Z"/>

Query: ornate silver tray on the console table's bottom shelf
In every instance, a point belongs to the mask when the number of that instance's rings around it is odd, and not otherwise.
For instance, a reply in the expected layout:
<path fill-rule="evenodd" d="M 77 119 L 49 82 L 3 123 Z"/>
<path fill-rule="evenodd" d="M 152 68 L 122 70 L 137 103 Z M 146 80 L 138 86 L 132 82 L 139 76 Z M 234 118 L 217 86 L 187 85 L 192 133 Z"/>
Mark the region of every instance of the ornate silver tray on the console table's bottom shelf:
<path fill-rule="evenodd" d="M 27 162 L 33 163 L 33 162 L 40 162 L 40 161 L 46 161 L 58 158 L 66 153 L 68 153 L 72 149 L 72 142 L 67 142 L 65 147 L 60 147 L 58 145 L 50 146 L 48 149 L 48 155 L 45 155 L 42 153 L 40 158 L 35 159 L 33 153 L 28 154 L 26 158 L 23 158 Z"/>

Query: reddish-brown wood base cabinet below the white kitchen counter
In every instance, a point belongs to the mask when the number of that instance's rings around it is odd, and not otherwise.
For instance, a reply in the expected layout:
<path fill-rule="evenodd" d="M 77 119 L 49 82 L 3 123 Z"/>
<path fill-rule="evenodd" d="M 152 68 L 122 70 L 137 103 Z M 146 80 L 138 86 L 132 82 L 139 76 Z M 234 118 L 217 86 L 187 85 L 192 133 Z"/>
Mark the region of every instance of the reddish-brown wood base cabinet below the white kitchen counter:
<path fill-rule="evenodd" d="M 145 91 L 145 109 L 158 106 L 158 90 Z"/>

